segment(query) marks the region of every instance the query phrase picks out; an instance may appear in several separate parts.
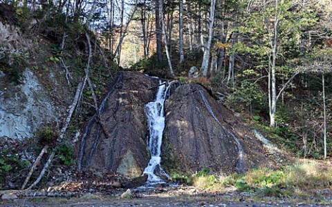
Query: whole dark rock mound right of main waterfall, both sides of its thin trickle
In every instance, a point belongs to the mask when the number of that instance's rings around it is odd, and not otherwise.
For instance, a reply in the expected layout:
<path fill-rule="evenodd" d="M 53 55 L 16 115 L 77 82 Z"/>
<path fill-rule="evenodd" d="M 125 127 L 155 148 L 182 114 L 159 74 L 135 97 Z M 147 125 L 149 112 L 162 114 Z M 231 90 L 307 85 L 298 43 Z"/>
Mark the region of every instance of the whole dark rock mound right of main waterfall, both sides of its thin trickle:
<path fill-rule="evenodd" d="M 205 97 L 216 115 L 216 121 L 203 102 L 203 87 L 184 84 L 174 91 L 165 103 L 165 131 L 162 146 L 162 165 L 168 172 L 192 174 L 209 168 L 212 172 L 229 174 L 237 171 L 239 151 L 232 135 L 243 147 L 244 166 L 252 168 L 269 164 L 264 149 L 254 135 L 232 115 L 216 103 L 207 92 Z"/>

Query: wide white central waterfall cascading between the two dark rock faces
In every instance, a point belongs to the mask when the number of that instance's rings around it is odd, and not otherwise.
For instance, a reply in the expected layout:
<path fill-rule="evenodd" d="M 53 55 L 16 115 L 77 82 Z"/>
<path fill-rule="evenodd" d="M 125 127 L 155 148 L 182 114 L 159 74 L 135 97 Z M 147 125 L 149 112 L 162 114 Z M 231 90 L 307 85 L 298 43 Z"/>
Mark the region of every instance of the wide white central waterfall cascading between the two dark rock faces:
<path fill-rule="evenodd" d="M 163 183 L 163 179 L 161 179 L 158 175 L 169 178 L 167 173 L 160 166 L 160 152 L 163 139 L 163 130 L 165 128 L 164 103 L 169 93 L 171 84 L 165 86 L 165 84 L 162 84 L 159 80 L 159 85 L 156 100 L 145 105 L 145 113 L 147 115 L 149 127 L 149 139 L 147 146 L 149 147 L 151 155 L 149 164 L 143 172 L 143 175 L 148 176 L 147 184 Z M 158 175 L 155 174 L 156 170 L 158 170 Z"/>

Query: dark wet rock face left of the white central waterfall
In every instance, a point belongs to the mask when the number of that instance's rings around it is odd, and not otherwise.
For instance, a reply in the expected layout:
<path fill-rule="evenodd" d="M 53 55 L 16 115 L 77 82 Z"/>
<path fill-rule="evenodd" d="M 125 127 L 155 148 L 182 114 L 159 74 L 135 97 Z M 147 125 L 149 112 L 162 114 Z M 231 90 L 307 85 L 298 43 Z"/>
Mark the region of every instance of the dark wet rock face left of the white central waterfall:
<path fill-rule="evenodd" d="M 92 121 L 86 140 L 81 141 L 82 170 L 119 172 L 129 178 L 142 175 L 149 161 L 144 106 L 154 99 L 156 91 L 150 88 L 157 85 L 156 79 L 145 75 L 121 73 L 101 113 L 102 125 Z"/>

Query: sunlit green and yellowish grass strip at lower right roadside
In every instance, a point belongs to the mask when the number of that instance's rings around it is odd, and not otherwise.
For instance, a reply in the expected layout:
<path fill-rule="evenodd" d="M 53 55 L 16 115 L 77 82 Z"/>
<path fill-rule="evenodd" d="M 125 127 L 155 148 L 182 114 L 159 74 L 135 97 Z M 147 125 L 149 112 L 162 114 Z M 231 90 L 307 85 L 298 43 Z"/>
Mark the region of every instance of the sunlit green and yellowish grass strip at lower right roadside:
<path fill-rule="evenodd" d="M 331 164 L 304 160 L 279 170 L 258 168 L 243 175 L 209 175 L 198 172 L 192 175 L 192 185 L 210 190 L 223 190 L 233 186 L 239 191 L 257 193 L 261 197 L 290 197 L 299 192 L 330 188 Z"/>

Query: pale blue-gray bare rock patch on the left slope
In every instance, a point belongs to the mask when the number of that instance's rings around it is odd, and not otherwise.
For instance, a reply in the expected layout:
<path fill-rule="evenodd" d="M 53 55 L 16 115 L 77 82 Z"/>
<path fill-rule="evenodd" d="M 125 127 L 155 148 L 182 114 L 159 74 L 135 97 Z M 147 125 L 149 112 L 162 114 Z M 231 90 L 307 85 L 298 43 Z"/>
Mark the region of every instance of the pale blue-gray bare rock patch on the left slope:
<path fill-rule="evenodd" d="M 0 77 L 5 79 L 6 77 Z M 23 140 L 33 137 L 44 123 L 57 120 L 59 112 L 34 73 L 26 68 L 23 83 L 0 89 L 0 137 Z"/>

